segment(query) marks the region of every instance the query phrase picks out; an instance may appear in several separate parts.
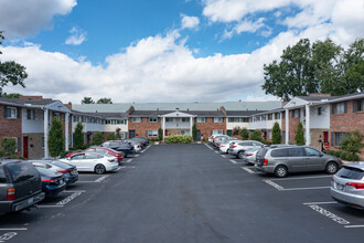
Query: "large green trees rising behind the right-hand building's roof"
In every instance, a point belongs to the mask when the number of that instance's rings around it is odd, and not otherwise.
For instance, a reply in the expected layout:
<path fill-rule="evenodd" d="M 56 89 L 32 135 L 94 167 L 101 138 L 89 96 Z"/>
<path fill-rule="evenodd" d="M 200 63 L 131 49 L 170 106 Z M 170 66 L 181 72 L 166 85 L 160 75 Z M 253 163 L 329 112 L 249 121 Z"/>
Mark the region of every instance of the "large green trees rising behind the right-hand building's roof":
<path fill-rule="evenodd" d="M 312 45 L 308 39 L 283 50 L 281 61 L 264 65 L 266 94 L 289 101 L 313 93 L 344 95 L 364 91 L 364 41 L 347 51 L 330 39 Z"/>

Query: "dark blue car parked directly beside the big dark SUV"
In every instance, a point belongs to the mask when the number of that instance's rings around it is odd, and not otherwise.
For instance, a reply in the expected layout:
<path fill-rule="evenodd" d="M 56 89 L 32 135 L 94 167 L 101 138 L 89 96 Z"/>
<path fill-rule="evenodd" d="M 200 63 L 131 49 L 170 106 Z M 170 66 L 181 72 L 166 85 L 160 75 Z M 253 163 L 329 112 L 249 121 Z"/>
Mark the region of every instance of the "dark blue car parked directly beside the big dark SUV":
<path fill-rule="evenodd" d="M 63 173 L 42 167 L 35 168 L 42 177 L 42 191 L 46 198 L 55 197 L 66 189 L 66 179 Z"/>

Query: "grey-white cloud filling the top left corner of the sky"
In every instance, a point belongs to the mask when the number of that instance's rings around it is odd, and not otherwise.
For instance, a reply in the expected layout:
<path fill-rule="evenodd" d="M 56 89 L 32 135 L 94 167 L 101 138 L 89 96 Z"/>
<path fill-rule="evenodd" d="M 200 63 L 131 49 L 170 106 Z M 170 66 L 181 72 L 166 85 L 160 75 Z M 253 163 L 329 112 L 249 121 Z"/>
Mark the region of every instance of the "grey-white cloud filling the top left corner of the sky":
<path fill-rule="evenodd" d="M 54 15 L 65 15 L 76 4 L 76 0 L 2 0 L 0 30 L 8 39 L 33 35 L 40 29 L 51 29 Z"/>

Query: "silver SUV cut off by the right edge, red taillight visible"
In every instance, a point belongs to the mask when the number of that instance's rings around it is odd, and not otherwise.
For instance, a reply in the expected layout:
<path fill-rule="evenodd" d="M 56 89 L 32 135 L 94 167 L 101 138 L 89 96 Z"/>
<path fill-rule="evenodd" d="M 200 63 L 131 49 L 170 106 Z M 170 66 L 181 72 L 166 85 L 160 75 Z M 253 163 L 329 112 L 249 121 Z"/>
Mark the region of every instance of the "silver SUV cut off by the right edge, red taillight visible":
<path fill-rule="evenodd" d="M 364 161 L 344 165 L 332 177 L 330 192 L 340 203 L 364 209 Z"/>

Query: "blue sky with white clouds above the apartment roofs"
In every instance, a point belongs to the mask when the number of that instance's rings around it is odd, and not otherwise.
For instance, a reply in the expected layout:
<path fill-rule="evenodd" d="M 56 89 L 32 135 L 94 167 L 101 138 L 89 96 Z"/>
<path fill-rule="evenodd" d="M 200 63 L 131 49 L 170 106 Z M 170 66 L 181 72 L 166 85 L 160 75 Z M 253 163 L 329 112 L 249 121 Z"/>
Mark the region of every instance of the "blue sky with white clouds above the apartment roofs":
<path fill-rule="evenodd" d="M 0 0 L 0 59 L 30 74 L 6 92 L 63 102 L 269 101 L 265 63 L 301 38 L 347 46 L 363 22 L 362 0 Z"/>

